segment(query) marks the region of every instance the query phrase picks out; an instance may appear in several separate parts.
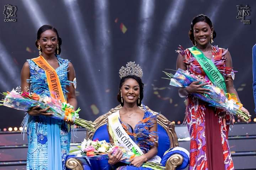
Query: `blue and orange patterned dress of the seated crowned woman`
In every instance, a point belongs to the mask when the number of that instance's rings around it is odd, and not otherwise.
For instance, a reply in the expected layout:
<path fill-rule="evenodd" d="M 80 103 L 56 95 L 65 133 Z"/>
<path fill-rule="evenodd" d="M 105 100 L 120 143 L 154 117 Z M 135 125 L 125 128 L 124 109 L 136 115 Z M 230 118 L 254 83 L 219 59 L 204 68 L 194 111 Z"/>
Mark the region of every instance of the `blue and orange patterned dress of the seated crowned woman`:
<path fill-rule="evenodd" d="M 147 153 L 151 147 L 157 146 L 158 134 L 157 132 L 150 130 L 150 128 L 152 128 L 157 122 L 157 116 L 158 114 L 153 114 L 145 110 L 143 119 L 135 125 L 134 129 L 129 124 L 120 120 L 125 132 L 139 146 L 143 153 Z M 137 168 L 135 166 L 125 165 L 122 163 L 117 164 L 117 166 L 119 166 L 117 170 L 151 170 L 151 168 Z"/>

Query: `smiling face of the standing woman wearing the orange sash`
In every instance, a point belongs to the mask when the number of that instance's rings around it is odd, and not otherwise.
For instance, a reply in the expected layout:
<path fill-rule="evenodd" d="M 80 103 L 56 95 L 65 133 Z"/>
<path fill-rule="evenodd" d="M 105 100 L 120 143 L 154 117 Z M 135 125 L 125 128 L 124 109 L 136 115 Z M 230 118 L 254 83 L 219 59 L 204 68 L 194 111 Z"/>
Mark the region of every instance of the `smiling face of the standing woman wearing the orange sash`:
<path fill-rule="evenodd" d="M 41 46 L 43 53 L 53 54 L 58 45 L 58 36 L 53 30 L 48 29 L 40 35 L 37 44 Z"/>

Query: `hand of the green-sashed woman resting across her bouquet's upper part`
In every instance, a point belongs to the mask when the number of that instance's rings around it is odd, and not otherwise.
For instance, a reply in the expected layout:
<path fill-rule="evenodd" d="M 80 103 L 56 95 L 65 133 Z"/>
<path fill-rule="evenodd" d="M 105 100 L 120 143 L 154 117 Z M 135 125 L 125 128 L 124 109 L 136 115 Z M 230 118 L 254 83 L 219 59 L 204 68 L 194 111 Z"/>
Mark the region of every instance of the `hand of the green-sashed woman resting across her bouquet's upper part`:
<path fill-rule="evenodd" d="M 197 93 L 197 94 L 208 94 L 208 91 L 210 89 L 203 88 L 202 86 L 208 85 L 210 83 L 202 83 L 198 84 L 200 81 L 193 81 L 189 86 L 187 86 L 185 89 L 188 94 Z"/>

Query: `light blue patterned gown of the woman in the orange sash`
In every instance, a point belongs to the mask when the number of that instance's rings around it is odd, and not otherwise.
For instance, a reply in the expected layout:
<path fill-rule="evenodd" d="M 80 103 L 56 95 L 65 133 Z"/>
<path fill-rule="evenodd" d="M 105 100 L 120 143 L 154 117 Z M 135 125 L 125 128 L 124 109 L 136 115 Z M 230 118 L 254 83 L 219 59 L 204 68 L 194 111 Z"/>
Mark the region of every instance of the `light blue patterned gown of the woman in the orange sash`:
<path fill-rule="evenodd" d="M 66 97 L 66 86 L 71 85 L 71 81 L 68 80 L 68 60 L 64 60 L 57 56 L 59 67 L 56 72 L 59 76 L 60 84 L 64 96 Z M 27 80 L 30 83 L 30 92 L 34 92 L 41 96 L 50 96 L 49 88 L 47 84 L 46 74 L 43 69 L 39 68 L 32 60 L 27 60 L 30 66 L 30 79 Z M 62 159 L 59 161 L 60 169 L 65 169 L 65 159 L 69 153 L 70 146 L 70 128 L 69 125 L 63 120 L 57 120 L 46 116 L 30 116 L 27 115 L 27 135 L 28 135 L 28 153 L 27 153 L 27 170 L 50 170 L 48 168 L 48 155 L 59 155 Z M 49 132 L 52 127 L 55 126 L 54 132 Z M 56 128 L 57 127 L 57 128 Z M 51 140 L 49 140 L 49 134 L 51 134 Z M 49 144 L 49 141 L 51 144 Z M 53 147 L 60 146 L 60 147 Z M 55 153 L 48 153 L 55 152 Z M 57 152 L 57 153 L 56 153 Z M 58 161 L 57 161 L 58 162 Z M 49 163 L 50 164 L 50 163 Z"/>

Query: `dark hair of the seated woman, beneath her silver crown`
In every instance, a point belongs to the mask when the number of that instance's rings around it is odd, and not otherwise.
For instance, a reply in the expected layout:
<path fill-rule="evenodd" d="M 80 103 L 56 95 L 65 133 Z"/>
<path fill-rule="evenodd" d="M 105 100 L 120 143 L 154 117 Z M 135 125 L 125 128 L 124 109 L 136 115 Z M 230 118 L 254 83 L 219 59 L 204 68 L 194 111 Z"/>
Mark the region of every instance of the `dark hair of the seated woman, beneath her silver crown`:
<path fill-rule="evenodd" d="M 142 103 L 142 99 L 143 99 L 143 88 L 144 88 L 144 84 L 142 83 L 142 79 L 139 78 L 139 77 L 136 76 L 136 75 L 127 75 L 126 77 L 123 77 L 123 78 L 120 80 L 119 92 L 118 92 L 118 94 L 117 94 L 117 101 L 121 104 L 121 106 L 124 105 L 124 103 L 122 103 L 122 101 L 121 101 L 120 89 L 121 89 L 121 87 L 122 87 L 124 81 L 126 81 L 127 79 L 134 79 L 134 80 L 136 80 L 136 81 L 138 82 L 138 84 L 139 84 L 139 89 L 140 89 L 140 95 L 139 95 L 139 96 L 140 96 L 140 101 L 139 101 L 139 103 L 138 103 L 138 100 L 137 100 L 136 103 L 137 103 L 137 106 L 140 106 L 141 103 Z"/>

